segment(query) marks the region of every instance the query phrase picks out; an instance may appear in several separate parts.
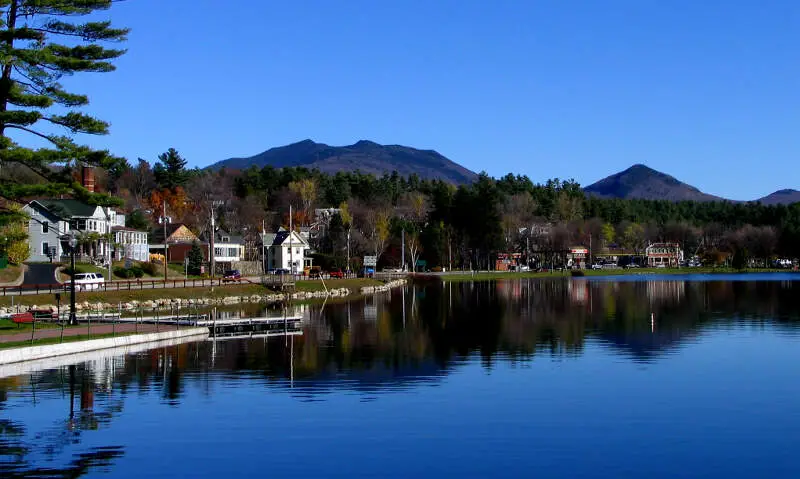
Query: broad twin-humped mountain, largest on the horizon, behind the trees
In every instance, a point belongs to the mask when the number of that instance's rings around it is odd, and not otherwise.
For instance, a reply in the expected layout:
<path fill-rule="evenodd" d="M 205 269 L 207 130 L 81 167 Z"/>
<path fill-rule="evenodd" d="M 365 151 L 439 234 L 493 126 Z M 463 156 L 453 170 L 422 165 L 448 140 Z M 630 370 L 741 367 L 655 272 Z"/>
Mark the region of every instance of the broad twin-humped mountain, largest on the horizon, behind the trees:
<path fill-rule="evenodd" d="M 401 176 L 416 174 L 423 179 L 440 179 L 455 184 L 471 183 L 478 177 L 434 150 L 381 145 L 370 140 L 359 140 L 349 146 L 329 146 L 306 139 L 246 158 L 229 158 L 209 168 L 244 169 L 268 165 L 275 168 L 318 168 L 324 173 L 358 170 L 382 175 L 396 171 Z"/>

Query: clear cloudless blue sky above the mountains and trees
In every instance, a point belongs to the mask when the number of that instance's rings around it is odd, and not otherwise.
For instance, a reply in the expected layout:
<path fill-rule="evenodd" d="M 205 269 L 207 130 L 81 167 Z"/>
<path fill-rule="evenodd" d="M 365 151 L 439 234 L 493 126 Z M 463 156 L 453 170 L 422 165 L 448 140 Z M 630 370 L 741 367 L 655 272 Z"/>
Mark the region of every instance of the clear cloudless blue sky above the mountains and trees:
<path fill-rule="evenodd" d="M 800 2 L 128 0 L 113 74 L 69 80 L 88 141 L 191 165 L 311 138 L 435 149 L 588 185 L 645 163 L 753 199 L 800 189 Z"/>

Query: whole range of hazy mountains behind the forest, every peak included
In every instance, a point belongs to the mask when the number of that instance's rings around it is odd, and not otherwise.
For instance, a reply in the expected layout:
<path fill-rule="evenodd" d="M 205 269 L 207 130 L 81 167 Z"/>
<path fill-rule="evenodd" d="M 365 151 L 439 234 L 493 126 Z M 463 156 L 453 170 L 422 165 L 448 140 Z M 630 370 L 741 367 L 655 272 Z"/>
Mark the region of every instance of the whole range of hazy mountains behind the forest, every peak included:
<path fill-rule="evenodd" d="M 419 150 L 402 145 L 380 145 L 361 140 L 348 146 L 330 146 L 303 140 L 271 148 L 254 156 L 229 158 L 209 168 L 245 169 L 251 166 L 316 168 L 324 173 L 360 171 L 382 175 L 397 171 L 402 176 L 416 174 L 423 179 L 440 179 L 454 184 L 468 184 L 477 174 L 434 150 Z M 601 198 L 649 199 L 670 201 L 733 201 L 704 193 L 674 177 L 637 164 L 625 171 L 593 183 L 584 191 Z M 754 199 L 765 205 L 800 202 L 800 191 L 784 189 Z"/>

